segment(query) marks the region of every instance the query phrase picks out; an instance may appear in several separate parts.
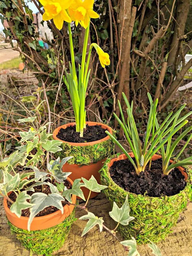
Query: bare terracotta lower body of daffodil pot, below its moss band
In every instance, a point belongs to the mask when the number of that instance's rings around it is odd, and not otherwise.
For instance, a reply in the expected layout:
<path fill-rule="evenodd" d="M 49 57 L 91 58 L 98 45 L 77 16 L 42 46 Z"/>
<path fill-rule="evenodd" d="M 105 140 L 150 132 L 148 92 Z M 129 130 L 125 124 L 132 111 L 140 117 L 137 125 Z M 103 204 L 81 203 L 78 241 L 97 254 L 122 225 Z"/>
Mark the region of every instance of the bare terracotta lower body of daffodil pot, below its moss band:
<path fill-rule="evenodd" d="M 65 163 L 65 165 L 63 165 L 62 167 L 62 171 L 72 172 L 70 178 L 73 181 L 76 179 L 80 179 L 81 177 L 89 180 L 91 178 L 91 175 L 93 175 L 94 178 L 96 178 L 97 182 L 101 184 L 101 176 L 99 174 L 99 170 L 103 167 L 103 163 L 105 162 L 105 160 L 106 158 L 90 165 L 69 165 L 68 163 Z M 83 191 L 85 199 L 87 199 L 89 195 L 89 190 L 84 187 L 82 187 L 81 190 Z M 90 198 L 94 198 L 98 194 L 99 193 L 97 192 L 91 192 Z M 77 198 L 79 199 L 78 196 Z"/>

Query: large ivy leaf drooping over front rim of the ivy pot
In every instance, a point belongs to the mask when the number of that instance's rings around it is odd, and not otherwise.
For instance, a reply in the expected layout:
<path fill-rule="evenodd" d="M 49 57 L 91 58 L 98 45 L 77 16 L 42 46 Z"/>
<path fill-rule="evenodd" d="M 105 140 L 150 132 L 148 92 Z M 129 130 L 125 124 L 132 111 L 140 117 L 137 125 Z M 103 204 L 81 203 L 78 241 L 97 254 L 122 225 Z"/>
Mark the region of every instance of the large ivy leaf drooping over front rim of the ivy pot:
<path fill-rule="evenodd" d="M 63 206 L 61 201 L 65 201 L 63 196 L 60 194 L 44 194 L 44 193 L 34 193 L 31 196 L 31 204 L 33 206 L 30 208 L 30 216 L 28 220 L 27 228 L 30 231 L 30 225 L 33 218 L 38 214 L 40 211 L 45 209 L 48 206 L 55 206 L 61 213 L 63 214 Z"/>

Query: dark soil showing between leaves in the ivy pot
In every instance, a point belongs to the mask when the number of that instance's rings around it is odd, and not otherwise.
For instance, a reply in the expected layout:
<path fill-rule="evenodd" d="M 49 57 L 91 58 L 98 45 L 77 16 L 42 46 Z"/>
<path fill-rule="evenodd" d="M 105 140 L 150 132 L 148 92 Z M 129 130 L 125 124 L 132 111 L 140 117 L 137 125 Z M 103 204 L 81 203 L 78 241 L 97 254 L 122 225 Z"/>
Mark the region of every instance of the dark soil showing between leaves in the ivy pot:
<path fill-rule="evenodd" d="M 48 180 L 50 181 L 50 180 Z M 31 186 L 32 183 L 30 183 L 28 186 Z M 54 185 L 54 182 L 53 182 L 53 185 Z M 65 180 L 64 182 L 64 185 L 70 189 L 72 186 L 71 186 L 71 183 L 68 181 L 68 180 Z M 41 193 L 44 193 L 44 194 L 51 194 L 51 190 L 50 190 L 50 187 L 48 185 L 43 185 L 43 186 L 35 186 L 33 187 L 35 192 L 41 192 Z M 32 194 L 34 194 L 35 192 L 33 191 L 27 191 L 27 194 L 29 194 L 30 196 Z M 9 198 L 12 199 L 13 202 L 15 202 L 16 200 L 16 194 L 14 192 L 12 192 L 10 195 L 9 195 Z M 29 200 L 27 199 L 27 201 L 29 202 Z M 61 202 L 62 205 L 64 206 L 66 203 Z M 8 208 L 10 208 L 12 205 L 11 202 L 7 201 L 7 206 Z M 56 208 L 55 206 L 48 206 L 46 207 L 45 209 L 43 209 L 42 211 L 40 211 L 38 214 L 36 214 L 35 217 L 40 217 L 40 216 L 44 216 L 44 215 L 48 215 L 50 213 L 54 213 L 55 211 L 59 211 L 58 208 Z M 27 209 L 24 209 L 22 210 L 22 216 L 25 216 L 25 217 L 29 217 L 30 216 L 30 209 L 27 208 Z"/>

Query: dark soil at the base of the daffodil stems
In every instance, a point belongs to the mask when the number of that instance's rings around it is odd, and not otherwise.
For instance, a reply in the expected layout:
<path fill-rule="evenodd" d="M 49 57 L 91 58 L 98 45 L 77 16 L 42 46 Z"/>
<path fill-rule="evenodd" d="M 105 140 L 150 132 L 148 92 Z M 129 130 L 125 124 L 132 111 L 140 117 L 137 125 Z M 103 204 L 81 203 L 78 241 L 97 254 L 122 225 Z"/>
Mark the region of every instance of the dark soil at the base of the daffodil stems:
<path fill-rule="evenodd" d="M 89 126 L 86 125 L 86 128 L 83 131 L 83 137 L 81 138 L 79 132 L 76 132 L 76 126 L 68 126 L 66 129 L 61 128 L 58 132 L 57 138 L 60 140 L 73 142 L 73 143 L 83 143 L 91 142 L 96 140 L 101 140 L 107 135 L 105 133 L 107 129 L 101 128 L 100 125 Z"/>

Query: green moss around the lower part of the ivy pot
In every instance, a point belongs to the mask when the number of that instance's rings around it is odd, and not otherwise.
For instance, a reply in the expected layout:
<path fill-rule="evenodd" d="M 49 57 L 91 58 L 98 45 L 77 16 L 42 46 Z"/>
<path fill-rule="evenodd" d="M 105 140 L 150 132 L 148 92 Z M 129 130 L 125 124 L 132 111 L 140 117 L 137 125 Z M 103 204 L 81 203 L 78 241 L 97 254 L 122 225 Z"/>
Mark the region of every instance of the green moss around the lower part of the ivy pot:
<path fill-rule="evenodd" d="M 16 234 L 16 238 L 22 245 L 36 254 L 51 256 L 53 251 L 57 251 L 63 246 L 65 239 L 71 229 L 71 225 L 76 220 L 74 218 L 75 210 L 60 224 L 37 231 L 28 231 L 13 226 L 8 221 L 11 232 Z"/>

